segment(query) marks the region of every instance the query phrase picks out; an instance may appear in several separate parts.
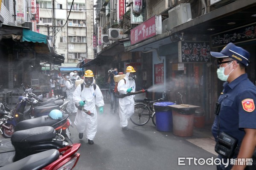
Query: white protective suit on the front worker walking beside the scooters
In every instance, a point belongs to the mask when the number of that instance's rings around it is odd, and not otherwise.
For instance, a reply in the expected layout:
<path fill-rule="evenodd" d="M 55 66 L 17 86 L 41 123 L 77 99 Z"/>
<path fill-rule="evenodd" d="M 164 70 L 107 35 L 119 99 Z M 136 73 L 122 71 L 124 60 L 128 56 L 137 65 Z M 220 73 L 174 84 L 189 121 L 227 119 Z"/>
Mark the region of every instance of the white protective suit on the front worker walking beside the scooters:
<path fill-rule="evenodd" d="M 94 90 L 94 81 L 92 85 L 90 85 L 89 87 L 84 84 L 85 83 L 83 82 L 77 86 L 73 94 L 73 101 L 76 103 L 76 105 L 79 105 L 80 101 L 85 101 L 84 108 L 90 111 L 91 113 L 94 113 L 94 116 L 90 116 L 87 113 L 78 110 L 74 124 L 76 125 L 76 129 L 79 133 L 84 133 L 84 131 L 86 131 L 85 137 L 87 139 L 93 140 L 97 132 L 96 105 L 98 107 L 104 106 L 104 101 L 102 92 L 100 91 L 98 85 L 96 85 L 96 89 Z M 84 85 L 82 92 L 81 85 Z"/>

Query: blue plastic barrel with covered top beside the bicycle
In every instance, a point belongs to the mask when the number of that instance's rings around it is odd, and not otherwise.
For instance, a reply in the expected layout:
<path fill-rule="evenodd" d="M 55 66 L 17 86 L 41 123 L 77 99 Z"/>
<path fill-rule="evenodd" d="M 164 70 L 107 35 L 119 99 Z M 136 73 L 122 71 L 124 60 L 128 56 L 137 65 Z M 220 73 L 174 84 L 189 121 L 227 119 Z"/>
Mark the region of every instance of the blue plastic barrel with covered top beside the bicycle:
<path fill-rule="evenodd" d="M 173 102 L 154 103 L 156 112 L 156 128 L 158 131 L 172 131 L 172 108 L 169 105 L 176 105 Z"/>

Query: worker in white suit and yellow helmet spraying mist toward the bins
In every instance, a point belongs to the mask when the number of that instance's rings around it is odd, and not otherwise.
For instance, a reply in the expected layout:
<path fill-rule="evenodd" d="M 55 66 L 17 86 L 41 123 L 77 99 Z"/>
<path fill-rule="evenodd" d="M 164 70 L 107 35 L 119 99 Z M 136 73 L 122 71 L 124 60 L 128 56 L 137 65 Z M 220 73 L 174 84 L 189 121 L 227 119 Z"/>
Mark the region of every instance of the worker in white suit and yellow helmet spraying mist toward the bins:
<path fill-rule="evenodd" d="M 134 68 L 128 66 L 126 68 L 125 80 L 121 79 L 118 82 L 117 90 L 120 94 L 127 94 L 135 92 L 136 85 L 133 79 Z M 126 96 L 124 98 L 119 98 L 119 117 L 120 117 L 120 126 L 122 130 L 128 130 L 128 119 L 134 113 L 134 95 Z"/>

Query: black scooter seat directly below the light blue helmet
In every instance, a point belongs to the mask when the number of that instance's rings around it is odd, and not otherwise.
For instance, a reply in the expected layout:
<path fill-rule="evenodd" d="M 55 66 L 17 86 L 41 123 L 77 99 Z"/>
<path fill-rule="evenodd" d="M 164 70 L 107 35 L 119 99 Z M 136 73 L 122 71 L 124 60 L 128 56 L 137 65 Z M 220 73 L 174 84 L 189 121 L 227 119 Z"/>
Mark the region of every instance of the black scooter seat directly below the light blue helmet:
<path fill-rule="evenodd" d="M 60 120 L 51 119 L 49 118 L 49 116 L 40 116 L 35 119 L 28 119 L 28 120 L 23 120 L 19 122 L 15 126 L 15 131 L 30 129 L 34 127 L 40 127 L 40 126 L 52 126 L 58 123 L 59 121 Z"/>

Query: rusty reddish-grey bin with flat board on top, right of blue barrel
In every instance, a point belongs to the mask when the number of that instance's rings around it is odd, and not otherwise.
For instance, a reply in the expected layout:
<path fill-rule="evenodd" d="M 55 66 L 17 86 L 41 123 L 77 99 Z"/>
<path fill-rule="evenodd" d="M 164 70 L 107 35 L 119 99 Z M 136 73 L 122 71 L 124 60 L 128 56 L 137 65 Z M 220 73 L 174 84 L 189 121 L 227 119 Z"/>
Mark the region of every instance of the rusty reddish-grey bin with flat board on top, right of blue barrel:
<path fill-rule="evenodd" d="M 176 136 L 193 136 L 195 109 L 194 105 L 171 105 L 173 134 Z"/>

